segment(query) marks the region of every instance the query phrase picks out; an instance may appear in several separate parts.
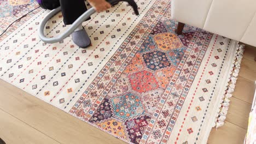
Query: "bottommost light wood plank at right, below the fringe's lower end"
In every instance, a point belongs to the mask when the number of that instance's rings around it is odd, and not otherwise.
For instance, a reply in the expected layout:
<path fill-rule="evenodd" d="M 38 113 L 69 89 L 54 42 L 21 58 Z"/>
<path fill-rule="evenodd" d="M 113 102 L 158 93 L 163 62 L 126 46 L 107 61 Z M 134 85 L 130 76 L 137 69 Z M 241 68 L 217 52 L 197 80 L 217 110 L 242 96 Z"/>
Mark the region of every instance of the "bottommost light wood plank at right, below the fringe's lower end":
<path fill-rule="evenodd" d="M 216 128 L 212 128 L 207 143 L 241 144 L 245 140 L 246 132 L 246 129 L 230 122 L 225 122 L 225 124 L 217 130 Z"/>

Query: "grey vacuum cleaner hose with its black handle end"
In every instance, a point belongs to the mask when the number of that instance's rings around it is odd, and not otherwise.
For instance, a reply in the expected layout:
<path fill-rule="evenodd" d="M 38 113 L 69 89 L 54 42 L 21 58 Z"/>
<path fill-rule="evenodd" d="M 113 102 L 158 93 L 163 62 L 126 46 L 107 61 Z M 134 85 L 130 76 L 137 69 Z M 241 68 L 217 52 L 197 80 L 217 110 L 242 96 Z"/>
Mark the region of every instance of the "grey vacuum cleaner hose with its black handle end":
<path fill-rule="evenodd" d="M 133 8 L 133 10 L 135 11 L 135 14 L 136 15 L 139 15 L 139 12 L 138 12 L 138 6 L 137 4 L 135 3 L 135 1 L 133 0 L 110 0 L 109 3 L 111 5 L 113 5 L 114 3 L 117 3 L 117 2 L 121 2 L 121 1 L 124 1 L 124 2 L 128 2 L 131 7 Z M 90 8 L 89 10 L 87 10 L 83 15 L 81 15 L 80 17 L 78 17 L 77 20 L 75 20 L 73 22 L 73 24 L 65 31 L 63 32 L 62 34 L 58 35 L 57 37 L 53 37 L 53 38 L 47 38 L 45 37 L 44 35 L 44 27 L 46 25 L 46 23 L 48 22 L 49 19 L 51 19 L 51 17 L 53 17 L 55 14 L 59 13 L 61 11 L 61 8 L 56 8 L 54 10 L 51 10 L 49 14 L 47 14 L 44 19 L 42 20 L 42 22 L 40 22 L 40 25 L 39 25 L 39 38 L 44 41 L 45 43 L 48 43 L 48 44 L 53 44 L 53 43 L 57 43 L 65 38 L 67 38 L 69 35 L 71 35 L 75 29 L 77 27 L 79 27 L 80 25 L 82 25 L 82 23 L 87 20 L 92 14 L 94 14 L 96 11 L 94 8 Z"/>

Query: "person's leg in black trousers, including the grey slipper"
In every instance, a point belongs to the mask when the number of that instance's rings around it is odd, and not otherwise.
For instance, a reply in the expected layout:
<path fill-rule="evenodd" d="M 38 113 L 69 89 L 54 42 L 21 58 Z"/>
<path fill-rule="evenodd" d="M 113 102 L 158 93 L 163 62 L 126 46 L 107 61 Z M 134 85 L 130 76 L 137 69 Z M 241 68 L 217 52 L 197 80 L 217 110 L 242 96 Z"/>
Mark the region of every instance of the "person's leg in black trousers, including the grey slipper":
<path fill-rule="evenodd" d="M 65 25 L 71 25 L 87 10 L 84 0 L 60 0 L 60 4 Z M 91 44 L 82 24 L 72 33 L 72 39 L 79 47 L 86 48 Z"/>

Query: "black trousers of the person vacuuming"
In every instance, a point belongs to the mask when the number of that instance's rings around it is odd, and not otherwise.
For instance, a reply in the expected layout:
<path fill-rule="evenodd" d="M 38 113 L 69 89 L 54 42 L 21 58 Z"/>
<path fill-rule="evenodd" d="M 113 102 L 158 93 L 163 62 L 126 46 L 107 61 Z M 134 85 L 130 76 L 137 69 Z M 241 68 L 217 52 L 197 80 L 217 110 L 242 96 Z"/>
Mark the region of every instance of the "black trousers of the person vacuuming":
<path fill-rule="evenodd" d="M 60 0 L 60 5 L 65 25 L 71 25 L 87 10 L 84 0 Z M 60 5 L 56 4 L 56 8 Z"/>

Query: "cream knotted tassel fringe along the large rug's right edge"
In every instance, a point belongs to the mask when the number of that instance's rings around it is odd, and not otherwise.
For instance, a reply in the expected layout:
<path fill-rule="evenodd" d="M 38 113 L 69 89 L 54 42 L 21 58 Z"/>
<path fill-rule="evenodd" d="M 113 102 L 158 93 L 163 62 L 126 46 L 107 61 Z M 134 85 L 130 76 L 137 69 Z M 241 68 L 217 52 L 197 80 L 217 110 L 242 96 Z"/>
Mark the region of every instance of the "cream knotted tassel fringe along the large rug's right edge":
<path fill-rule="evenodd" d="M 226 114 L 228 113 L 229 109 L 229 98 L 232 97 L 232 93 L 235 89 L 235 84 L 237 80 L 237 76 L 240 70 L 240 64 L 243 57 L 244 45 L 236 46 L 236 57 L 233 60 L 233 69 L 229 72 L 228 82 L 226 83 L 226 90 L 225 93 L 222 95 L 222 101 L 219 104 L 219 111 L 216 114 L 216 120 L 214 126 L 216 128 L 221 127 L 224 125 L 224 121 L 226 119 Z"/>

